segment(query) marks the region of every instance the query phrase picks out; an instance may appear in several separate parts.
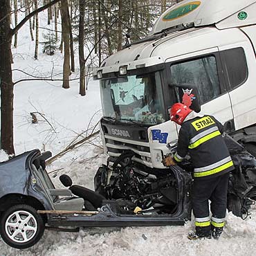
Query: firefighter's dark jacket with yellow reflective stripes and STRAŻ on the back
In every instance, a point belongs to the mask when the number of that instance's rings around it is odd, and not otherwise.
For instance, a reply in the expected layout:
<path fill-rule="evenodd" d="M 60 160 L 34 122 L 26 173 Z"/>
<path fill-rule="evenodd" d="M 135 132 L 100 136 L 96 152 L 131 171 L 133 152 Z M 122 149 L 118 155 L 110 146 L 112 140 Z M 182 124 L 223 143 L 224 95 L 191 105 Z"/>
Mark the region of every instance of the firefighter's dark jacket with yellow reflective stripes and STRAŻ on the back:
<path fill-rule="evenodd" d="M 194 165 L 194 178 L 209 179 L 234 169 L 223 137 L 223 125 L 213 116 L 185 120 L 179 131 L 174 159 L 181 162 L 188 152 Z"/>

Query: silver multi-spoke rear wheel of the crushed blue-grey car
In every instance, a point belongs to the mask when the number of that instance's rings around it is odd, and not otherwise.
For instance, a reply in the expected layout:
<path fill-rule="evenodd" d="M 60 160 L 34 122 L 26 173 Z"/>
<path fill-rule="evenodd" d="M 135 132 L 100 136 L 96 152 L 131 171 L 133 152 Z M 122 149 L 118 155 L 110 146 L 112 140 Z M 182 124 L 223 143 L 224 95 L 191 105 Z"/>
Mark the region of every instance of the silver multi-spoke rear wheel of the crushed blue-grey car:
<path fill-rule="evenodd" d="M 0 235 L 14 248 L 33 246 L 44 234 L 44 228 L 41 215 L 30 205 L 14 205 L 1 216 Z"/>

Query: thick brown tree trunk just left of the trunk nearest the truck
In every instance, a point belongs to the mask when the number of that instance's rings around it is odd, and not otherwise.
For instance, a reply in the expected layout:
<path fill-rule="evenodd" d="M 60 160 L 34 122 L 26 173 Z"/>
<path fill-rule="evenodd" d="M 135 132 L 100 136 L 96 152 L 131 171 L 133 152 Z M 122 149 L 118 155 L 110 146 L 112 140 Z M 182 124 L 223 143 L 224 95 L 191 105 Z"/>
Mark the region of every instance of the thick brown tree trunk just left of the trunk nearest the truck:
<path fill-rule="evenodd" d="M 61 6 L 62 14 L 62 36 L 64 43 L 64 63 L 63 63 L 63 84 L 64 89 L 69 88 L 69 75 L 70 75 L 70 42 L 69 42 L 69 26 L 68 26 L 68 1 L 62 0 Z"/>

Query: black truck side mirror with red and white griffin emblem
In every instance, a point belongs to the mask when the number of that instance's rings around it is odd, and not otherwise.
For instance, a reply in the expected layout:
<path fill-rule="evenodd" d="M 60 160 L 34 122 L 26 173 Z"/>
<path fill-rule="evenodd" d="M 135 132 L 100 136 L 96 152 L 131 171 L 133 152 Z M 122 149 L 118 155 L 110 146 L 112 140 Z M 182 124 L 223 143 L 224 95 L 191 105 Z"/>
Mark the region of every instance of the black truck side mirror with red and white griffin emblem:
<path fill-rule="evenodd" d="M 193 109 L 196 113 L 201 111 L 199 91 L 194 84 L 179 84 L 175 86 L 179 101 Z"/>

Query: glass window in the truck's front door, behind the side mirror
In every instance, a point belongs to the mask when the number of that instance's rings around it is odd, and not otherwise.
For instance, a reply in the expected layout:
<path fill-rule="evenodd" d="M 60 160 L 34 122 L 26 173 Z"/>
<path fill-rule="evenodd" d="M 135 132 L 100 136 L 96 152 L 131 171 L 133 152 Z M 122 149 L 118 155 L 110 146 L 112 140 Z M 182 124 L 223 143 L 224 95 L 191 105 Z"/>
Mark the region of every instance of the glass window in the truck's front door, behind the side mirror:
<path fill-rule="evenodd" d="M 194 84 L 199 89 L 201 104 L 221 95 L 214 55 L 172 64 L 171 84 Z"/>

